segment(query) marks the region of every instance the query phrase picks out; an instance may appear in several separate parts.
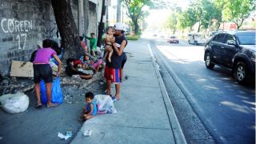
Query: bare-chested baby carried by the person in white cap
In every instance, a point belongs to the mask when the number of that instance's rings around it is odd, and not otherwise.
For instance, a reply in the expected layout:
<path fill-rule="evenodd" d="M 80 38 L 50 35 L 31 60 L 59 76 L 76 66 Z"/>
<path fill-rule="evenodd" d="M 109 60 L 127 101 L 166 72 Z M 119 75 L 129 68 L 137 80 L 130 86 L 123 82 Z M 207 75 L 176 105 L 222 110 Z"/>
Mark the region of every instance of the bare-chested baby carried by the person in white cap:
<path fill-rule="evenodd" d="M 108 57 L 108 61 L 111 62 L 111 56 L 113 54 L 112 49 L 112 42 L 111 40 L 114 39 L 114 27 L 109 26 L 106 33 L 106 39 L 105 39 L 105 48 L 110 48 L 110 52 L 106 51 L 104 55 L 104 60 L 106 60 L 106 57 Z"/>

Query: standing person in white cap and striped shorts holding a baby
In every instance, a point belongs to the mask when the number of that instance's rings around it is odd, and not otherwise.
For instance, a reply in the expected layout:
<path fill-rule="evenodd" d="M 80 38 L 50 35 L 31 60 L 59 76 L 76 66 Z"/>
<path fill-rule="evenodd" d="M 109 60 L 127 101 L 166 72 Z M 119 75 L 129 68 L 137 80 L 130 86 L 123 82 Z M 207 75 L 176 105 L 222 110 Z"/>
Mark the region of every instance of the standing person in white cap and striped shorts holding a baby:
<path fill-rule="evenodd" d="M 127 39 L 123 33 L 124 27 L 122 23 L 116 23 L 114 25 L 115 35 L 111 42 L 113 45 L 114 53 L 111 57 L 111 62 L 106 61 L 105 74 L 106 78 L 106 94 L 111 95 L 111 83 L 115 84 L 115 95 L 112 99 L 120 99 L 120 82 L 122 82 L 122 67 L 125 63 L 126 54 L 123 52 L 127 45 Z M 110 51 L 110 48 L 106 48 L 106 51 Z"/>

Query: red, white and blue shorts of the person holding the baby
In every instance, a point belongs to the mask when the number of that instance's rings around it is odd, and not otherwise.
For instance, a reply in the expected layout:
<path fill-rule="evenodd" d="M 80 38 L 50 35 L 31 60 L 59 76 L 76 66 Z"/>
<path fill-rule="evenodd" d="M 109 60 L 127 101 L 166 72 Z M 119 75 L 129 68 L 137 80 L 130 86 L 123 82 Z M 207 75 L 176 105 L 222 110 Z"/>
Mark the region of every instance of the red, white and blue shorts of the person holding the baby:
<path fill-rule="evenodd" d="M 121 82 L 121 69 L 113 69 L 108 66 L 105 67 L 104 77 L 107 80 L 111 80 L 112 83 L 118 84 Z"/>

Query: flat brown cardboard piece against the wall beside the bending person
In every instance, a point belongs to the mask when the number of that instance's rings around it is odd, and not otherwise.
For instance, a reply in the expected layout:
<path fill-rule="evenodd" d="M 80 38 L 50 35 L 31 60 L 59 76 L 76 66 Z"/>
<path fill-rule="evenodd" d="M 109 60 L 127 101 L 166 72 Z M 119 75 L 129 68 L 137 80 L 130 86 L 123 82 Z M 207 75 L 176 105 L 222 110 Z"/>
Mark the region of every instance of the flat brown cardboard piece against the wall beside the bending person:
<path fill-rule="evenodd" d="M 10 68 L 12 77 L 34 77 L 33 63 L 13 61 Z"/>

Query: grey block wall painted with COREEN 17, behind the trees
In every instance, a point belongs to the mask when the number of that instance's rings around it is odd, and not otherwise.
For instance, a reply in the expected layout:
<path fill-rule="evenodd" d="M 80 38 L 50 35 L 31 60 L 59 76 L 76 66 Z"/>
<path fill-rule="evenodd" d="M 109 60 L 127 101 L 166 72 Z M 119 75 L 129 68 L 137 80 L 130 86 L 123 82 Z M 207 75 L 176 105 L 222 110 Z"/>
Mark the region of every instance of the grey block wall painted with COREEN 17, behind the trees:
<path fill-rule="evenodd" d="M 8 76 L 12 60 L 29 61 L 38 41 L 52 35 L 57 25 L 50 0 L 0 0 L 0 74 Z M 71 1 L 78 25 L 78 0 Z M 85 34 L 96 32 L 97 5 L 84 0 Z M 50 30 L 53 30 L 50 33 Z"/>

